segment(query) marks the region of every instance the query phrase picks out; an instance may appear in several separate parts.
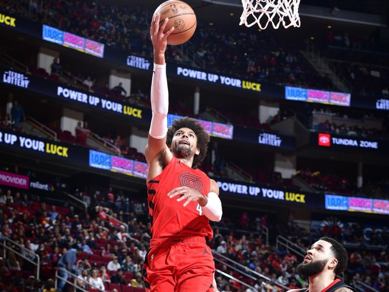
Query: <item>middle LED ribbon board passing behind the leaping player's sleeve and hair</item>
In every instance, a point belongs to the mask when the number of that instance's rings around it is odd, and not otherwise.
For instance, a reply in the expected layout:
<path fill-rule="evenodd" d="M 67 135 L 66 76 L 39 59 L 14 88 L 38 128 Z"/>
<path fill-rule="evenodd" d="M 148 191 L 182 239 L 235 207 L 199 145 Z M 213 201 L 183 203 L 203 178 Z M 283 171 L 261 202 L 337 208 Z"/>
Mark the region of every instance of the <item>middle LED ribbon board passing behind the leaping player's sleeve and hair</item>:
<path fill-rule="evenodd" d="M 134 106 L 133 104 L 118 101 L 116 99 L 113 100 L 105 95 L 84 91 L 78 88 L 76 89 L 63 83 L 46 80 L 39 76 L 20 73 L 1 65 L 0 76 L 2 77 L 0 79 L 0 84 L 3 83 L 5 85 L 33 91 L 53 98 L 59 98 L 64 101 L 82 104 L 97 110 L 104 110 L 115 115 L 144 122 L 147 125 L 151 121 L 151 109 Z M 173 120 L 181 117 L 183 116 L 168 114 L 168 127 L 170 127 Z M 197 119 L 197 121 L 214 137 L 255 143 L 285 150 L 296 149 L 296 141 L 292 136 L 264 132 L 255 128 L 236 127 L 235 130 L 235 126 L 229 124 L 210 122 L 201 119 Z"/>

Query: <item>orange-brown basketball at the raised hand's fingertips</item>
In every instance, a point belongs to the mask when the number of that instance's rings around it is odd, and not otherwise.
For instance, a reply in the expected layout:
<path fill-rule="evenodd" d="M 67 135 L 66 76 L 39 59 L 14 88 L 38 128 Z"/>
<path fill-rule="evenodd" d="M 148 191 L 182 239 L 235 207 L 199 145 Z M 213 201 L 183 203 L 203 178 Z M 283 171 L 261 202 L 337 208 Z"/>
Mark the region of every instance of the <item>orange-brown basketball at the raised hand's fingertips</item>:
<path fill-rule="evenodd" d="M 167 38 L 169 45 L 183 44 L 195 33 L 196 15 L 191 6 L 185 2 L 177 0 L 165 1 L 159 5 L 154 14 L 161 15 L 159 24 L 162 24 L 165 18 L 169 18 L 163 33 L 166 33 L 174 26 L 173 33 Z"/>

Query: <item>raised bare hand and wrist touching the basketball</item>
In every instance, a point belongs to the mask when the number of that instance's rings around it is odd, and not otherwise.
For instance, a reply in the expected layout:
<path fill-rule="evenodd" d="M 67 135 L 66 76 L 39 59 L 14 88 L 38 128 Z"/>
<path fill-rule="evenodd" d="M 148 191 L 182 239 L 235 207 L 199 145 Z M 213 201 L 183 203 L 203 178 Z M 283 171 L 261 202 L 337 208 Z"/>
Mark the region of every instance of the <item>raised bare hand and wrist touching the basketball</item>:
<path fill-rule="evenodd" d="M 153 20 L 151 21 L 150 26 L 150 37 L 151 42 L 153 43 L 154 54 L 165 54 L 167 46 L 167 37 L 174 31 L 174 26 L 170 30 L 163 33 L 169 18 L 165 18 L 161 25 L 159 25 L 161 15 L 153 15 Z"/>

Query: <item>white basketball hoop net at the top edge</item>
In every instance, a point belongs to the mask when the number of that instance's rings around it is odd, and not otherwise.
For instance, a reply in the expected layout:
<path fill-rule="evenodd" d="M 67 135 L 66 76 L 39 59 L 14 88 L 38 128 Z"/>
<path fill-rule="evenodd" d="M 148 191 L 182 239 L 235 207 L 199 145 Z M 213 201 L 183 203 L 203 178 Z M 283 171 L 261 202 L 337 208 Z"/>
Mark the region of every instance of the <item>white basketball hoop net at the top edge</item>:
<path fill-rule="evenodd" d="M 274 29 L 278 29 L 280 23 L 284 28 L 292 25 L 300 27 L 300 0 L 242 0 L 242 4 L 239 25 L 251 27 L 257 23 L 261 29 L 265 29 L 271 22 Z"/>

